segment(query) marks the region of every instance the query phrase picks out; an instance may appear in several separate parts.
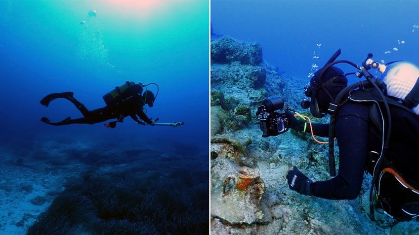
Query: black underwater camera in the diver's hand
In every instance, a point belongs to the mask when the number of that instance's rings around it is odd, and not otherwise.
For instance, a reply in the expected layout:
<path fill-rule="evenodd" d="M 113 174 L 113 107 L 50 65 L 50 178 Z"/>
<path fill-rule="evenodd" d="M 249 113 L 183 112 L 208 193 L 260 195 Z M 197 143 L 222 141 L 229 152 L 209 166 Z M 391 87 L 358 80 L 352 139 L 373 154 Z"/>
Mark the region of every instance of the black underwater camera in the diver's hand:
<path fill-rule="evenodd" d="M 257 108 L 257 119 L 260 121 L 262 137 L 275 136 L 288 131 L 288 119 L 285 111 L 290 110 L 286 105 L 282 113 L 275 112 L 284 107 L 284 100 L 279 97 L 263 101 Z"/>

